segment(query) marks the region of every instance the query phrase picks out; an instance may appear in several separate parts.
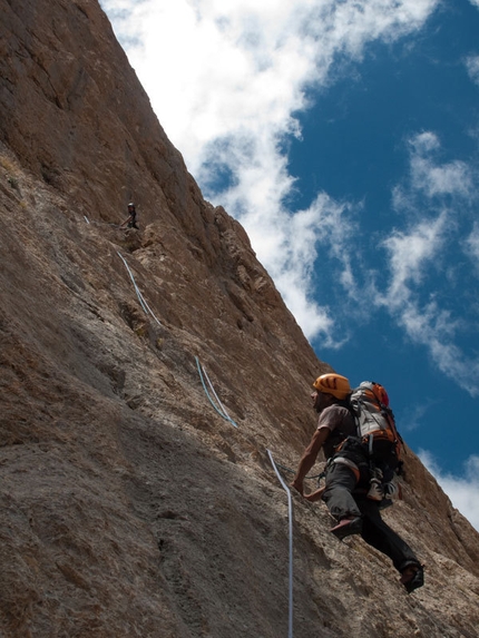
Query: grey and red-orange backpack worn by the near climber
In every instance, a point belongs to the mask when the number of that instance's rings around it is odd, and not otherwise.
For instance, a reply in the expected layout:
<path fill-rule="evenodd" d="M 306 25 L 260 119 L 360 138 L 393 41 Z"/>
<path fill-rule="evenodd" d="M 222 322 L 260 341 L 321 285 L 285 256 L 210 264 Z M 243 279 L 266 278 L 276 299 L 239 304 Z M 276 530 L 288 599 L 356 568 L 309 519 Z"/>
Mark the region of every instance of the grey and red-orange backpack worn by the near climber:
<path fill-rule="evenodd" d="M 401 464 L 402 439 L 395 428 L 387 391 L 374 381 L 363 381 L 352 391 L 350 405 L 358 436 L 371 462 L 392 475 Z"/>

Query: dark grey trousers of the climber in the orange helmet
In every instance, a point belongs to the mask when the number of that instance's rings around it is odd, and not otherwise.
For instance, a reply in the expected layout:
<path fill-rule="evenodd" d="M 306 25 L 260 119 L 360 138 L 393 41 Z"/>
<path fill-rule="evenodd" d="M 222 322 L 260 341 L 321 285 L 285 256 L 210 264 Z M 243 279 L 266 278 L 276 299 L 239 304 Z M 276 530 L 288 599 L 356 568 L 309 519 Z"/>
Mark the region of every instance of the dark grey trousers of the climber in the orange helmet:
<path fill-rule="evenodd" d="M 358 487 L 364 487 L 364 490 L 353 495 Z M 333 463 L 326 473 L 323 501 L 338 520 L 361 517 L 363 540 L 389 556 L 398 571 L 401 572 L 408 565 L 420 565 L 409 544 L 382 520 L 378 502 L 365 498 L 368 487 L 369 472 L 363 468 L 358 482 L 350 468 Z"/>

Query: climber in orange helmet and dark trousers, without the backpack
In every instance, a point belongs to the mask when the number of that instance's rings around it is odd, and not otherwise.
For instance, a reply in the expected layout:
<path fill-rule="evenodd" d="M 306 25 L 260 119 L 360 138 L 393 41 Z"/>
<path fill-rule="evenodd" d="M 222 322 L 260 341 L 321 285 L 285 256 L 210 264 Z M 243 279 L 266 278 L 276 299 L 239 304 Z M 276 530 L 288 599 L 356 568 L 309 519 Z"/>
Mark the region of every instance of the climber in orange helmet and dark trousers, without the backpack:
<path fill-rule="evenodd" d="M 380 503 L 368 499 L 371 471 L 349 408 L 350 383 L 339 374 L 323 374 L 313 387 L 315 392 L 311 397 L 319 413 L 317 429 L 291 485 L 305 499 L 312 502 L 322 499 L 326 503 L 338 521 L 330 530 L 336 538 L 342 540 L 350 534 L 361 534 L 366 543 L 385 553 L 401 573 L 400 582 L 410 593 L 423 585 L 423 567 L 412 549 L 382 520 Z M 325 488 L 304 494 L 304 478 L 321 449 L 328 460 Z"/>

